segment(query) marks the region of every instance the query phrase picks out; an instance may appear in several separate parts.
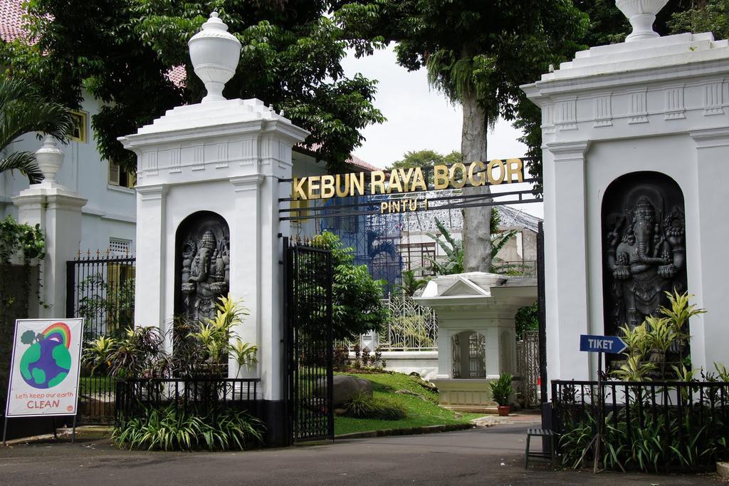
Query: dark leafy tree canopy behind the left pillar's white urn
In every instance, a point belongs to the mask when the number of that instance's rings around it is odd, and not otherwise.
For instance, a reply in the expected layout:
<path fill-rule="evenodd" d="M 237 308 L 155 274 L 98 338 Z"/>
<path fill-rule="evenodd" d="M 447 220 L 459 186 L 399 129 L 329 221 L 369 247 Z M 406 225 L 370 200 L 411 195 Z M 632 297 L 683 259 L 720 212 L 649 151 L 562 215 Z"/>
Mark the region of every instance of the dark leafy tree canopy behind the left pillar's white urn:
<path fill-rule="evenodd" d="M 104 102 L 93 126 L 104 158 L 133 167 L 117 136 L 130 134 L 176 105 L 199 101 L 187 40 L 212 10 L 243 45 L 227 83 L 228 98 L 257 97 L 311 131 L 308 144 L 332 171 L 344 168 L 362 142 L 359 130 L 384 117 L 373 107 L 375 82 L 344 76 L 346 47 L 356 44 L 327 16 L 324 0 L 29 0 L 33 46 L 12 42 L 0 62 L 49 88 L 56 101 L 78 107 L 83 91 Z M 168 79 L 184 66 L 187 85 Z"/>

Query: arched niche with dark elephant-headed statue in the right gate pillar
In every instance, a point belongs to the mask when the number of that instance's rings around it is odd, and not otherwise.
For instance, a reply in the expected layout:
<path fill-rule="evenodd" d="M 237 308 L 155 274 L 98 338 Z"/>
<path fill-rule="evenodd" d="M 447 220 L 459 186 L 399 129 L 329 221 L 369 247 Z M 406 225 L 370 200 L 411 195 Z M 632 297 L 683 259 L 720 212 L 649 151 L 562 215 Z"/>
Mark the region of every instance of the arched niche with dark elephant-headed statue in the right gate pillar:
<path fill-rule="evenodd" d="M 607 187 L 601 218 L 605 332 L 615 335 L 657 315 L 666 290 L 687 288 L 684 196 L 666 174 L 632 172 Z"/>

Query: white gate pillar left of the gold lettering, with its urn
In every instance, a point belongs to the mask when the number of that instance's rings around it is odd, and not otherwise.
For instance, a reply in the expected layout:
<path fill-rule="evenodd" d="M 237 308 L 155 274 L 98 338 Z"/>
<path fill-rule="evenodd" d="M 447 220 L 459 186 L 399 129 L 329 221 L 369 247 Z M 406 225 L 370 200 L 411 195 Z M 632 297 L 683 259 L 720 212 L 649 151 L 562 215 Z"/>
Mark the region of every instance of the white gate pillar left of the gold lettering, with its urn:
<path fill-rule="evenodd" d="M 163 326 L 185 306 L 192 312 L 190 302 L 181 297 L 182 282 L 176 282 L 182 279 L 182 247 L 190 251 L 202 244 L 218 245 L 213 250 L 220 261 L 227 261 L 227 290 L 250 312 L 236 333 L 259 350 L 257 368 L 239 373 L 237 363 L 229 360 L 229 373 L 260 377 L 256 398 L 262 401 L 267 442 L 284 444 L 280 236 L 289 234 L 289 225 L 279 221 L 278 199 L 287 196 L 280 193 L 279 180 L 292 176 L 292 146 L 303 142 L 308 131 L 258 99 L 221 96 L 240 49 L 227 26 L 211 15 L 203 31 L 190 40 L 190 58 L 195 73 L 206 82 L 208 96 L 199 104 L 171 109 L 136 134 L 120 138 L 138 161 L 136 323 Z M 195 242 L 190 228 L 219 233 Z M 201 263 L 203 256 L 192 252 L 184 271 L 190 271 L 189 262 L 195 258 L 198 266 L 206 265 Z M 226 287 L 220 273 L 212 284 L 205 282 L 206 288 Z M 184 283 L 189 295 L 197 291 L 191 282 Z"/>

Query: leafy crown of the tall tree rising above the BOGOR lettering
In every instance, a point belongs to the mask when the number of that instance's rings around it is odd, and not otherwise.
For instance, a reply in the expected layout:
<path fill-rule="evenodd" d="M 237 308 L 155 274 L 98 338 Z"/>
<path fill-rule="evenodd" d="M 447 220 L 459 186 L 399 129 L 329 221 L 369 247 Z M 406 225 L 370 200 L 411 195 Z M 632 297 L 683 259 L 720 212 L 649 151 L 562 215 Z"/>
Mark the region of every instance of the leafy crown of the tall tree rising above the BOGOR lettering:
<path fill-rule="evenodd" d="M 578 50 L 588 26 L 569 0 L 362 0 L 337 18 L 375 47 L 397 42 L 401 66 L 425 66 L 432 85 L 481 118 L 480 131 L 464 126 L 461 151 L 469 160 L 486 156 L 486 124 L 521 115 L 519 85 Z"/>

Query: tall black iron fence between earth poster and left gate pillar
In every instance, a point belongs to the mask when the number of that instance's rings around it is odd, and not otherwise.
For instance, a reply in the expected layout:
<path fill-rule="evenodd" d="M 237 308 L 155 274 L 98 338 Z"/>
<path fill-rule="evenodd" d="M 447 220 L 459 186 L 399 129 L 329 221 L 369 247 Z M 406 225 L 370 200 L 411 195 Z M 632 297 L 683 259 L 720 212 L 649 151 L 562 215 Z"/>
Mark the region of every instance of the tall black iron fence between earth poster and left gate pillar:
<path fill-rule="evenodd" d="M 135 258 L 88 252 L 66 262 L 66 317 L 83 317 L 84 346 L 101 336 L 118 337 L 134 326 Z M 114 378 L 79 378 L 79 421 L 114 421 Z"/>

